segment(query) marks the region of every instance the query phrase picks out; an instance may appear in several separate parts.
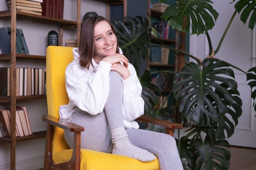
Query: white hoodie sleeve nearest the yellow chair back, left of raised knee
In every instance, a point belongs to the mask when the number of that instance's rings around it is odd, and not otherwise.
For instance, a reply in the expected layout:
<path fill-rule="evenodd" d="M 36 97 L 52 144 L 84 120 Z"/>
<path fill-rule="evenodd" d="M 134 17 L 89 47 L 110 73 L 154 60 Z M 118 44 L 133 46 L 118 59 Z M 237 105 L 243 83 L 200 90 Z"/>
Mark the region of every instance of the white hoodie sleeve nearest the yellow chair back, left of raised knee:
<path fill-rule="evenodd" d="M 70 102 L 91 115 L 101 113 L 108 99 L 110 68 L 110 63 L 102 61 L 95 73 L 79 64 L 69 65 L 65 75 Z"/>

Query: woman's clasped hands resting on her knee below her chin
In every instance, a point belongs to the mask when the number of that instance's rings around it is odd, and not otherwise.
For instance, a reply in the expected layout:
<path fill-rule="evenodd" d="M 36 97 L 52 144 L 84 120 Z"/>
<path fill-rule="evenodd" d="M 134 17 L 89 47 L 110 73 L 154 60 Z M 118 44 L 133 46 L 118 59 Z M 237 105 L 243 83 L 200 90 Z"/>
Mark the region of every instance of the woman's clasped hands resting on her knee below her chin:
<path fill-rule="evenodd" d="M 126 56 L 115 53 L 114 55 L 104 57 L 101 61 L 112 64 L 110 70 L 119 73 L 122 76 L 122 79 L 128 79 L 128 77 L 130 77 L 130 71 L 128 70 L 129 60 L 126 58 Z M 124 65 L 122 65 L 120 62 L 123 62 Z"/>

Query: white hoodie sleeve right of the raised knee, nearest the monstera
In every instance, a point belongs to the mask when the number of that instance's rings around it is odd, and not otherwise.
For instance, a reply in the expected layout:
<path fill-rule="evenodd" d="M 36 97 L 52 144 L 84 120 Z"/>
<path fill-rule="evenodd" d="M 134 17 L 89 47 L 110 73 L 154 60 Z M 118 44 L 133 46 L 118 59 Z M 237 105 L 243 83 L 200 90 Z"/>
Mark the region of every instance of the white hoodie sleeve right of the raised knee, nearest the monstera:
<path fill-rule="evenodd" d="M 141 97 L 142 87 L 135 68 L 129 63 L 130 77 L 122 79 L 124 88 L 123 117 L 126 121 L 133 121 L 144 114 L 144 100 Z"/>

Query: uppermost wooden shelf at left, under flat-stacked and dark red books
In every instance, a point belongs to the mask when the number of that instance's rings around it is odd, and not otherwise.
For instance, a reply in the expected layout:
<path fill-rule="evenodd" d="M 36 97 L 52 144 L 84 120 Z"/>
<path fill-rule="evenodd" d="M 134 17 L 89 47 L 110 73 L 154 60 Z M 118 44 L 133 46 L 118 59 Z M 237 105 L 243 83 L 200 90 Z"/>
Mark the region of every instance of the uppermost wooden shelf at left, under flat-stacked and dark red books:
<path fill-rule="evenodd" d="M 25 13 L 17 11 L 17 19 L 27 20 L 31 22 L 38 22 L 43 24 L 58 25 L 58 26 L 74 26 L 76 22 L 69 20 L 62 20 L 59 18 L 52 18 L 42 15 L 34 15 L 31 13 Z M 11 10 L 0 11 L 0 18 L 11 18 Z"/>

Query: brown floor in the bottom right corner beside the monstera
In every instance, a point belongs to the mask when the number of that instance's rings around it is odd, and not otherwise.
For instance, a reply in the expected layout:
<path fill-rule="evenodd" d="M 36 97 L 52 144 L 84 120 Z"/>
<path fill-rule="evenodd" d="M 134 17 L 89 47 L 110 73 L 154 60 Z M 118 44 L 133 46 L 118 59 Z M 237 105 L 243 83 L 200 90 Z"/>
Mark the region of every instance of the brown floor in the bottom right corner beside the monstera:
<path fill-rule="evenodd" d="M 256 148 L 231 146 L 230 152 L 229 170 L 256 170 Z"/>

